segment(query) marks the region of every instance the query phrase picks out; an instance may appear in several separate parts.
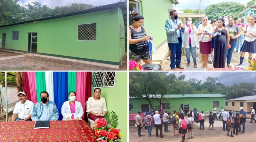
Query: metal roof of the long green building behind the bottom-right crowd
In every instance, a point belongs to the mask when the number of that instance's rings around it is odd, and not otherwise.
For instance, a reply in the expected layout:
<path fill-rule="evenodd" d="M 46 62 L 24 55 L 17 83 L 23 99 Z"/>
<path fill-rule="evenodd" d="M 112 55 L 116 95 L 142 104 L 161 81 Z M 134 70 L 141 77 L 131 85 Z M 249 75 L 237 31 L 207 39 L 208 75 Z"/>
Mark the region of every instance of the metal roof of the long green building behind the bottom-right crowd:
<path fill-rule="evenodd" d="M 150 95 L 150 98 L 155 97 L 155 95 Z M 160 98 L 161 95 L 156 95 L 157 98 Z M 207 98 L 207 97 L 227 97 L 221 94 L 170 94 L 164 95 L 164 98 Z M 130 97 L 130 99 L 138 99 L 135 97 Z"/>

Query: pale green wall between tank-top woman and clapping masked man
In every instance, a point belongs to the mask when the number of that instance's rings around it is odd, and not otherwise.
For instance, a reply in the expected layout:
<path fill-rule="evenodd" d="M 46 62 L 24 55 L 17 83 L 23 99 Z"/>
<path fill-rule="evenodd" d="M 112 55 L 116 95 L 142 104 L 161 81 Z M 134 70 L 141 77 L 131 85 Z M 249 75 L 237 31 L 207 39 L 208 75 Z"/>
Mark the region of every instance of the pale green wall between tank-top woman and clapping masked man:
<path fill-rule="evenodd" d="M 165 21 L 169 18 L 168 9 L 173 9 L 170 0 L 141 0 L 141 12 L 144 19 L 144 27 L 148 35 L 154 37 L 157 48 L 166 41 Z"/>

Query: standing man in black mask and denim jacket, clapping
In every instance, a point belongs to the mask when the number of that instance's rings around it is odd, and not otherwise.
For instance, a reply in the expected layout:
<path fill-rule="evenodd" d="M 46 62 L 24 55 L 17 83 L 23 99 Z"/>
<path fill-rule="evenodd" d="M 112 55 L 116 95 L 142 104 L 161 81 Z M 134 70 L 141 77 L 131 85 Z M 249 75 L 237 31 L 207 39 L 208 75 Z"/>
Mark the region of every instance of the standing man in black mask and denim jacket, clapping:
<path fill-rule="evenodd" d="M 184 69 L 184 67 L 180 65 L 180 61 L 185 23 L 182 24 L 182 21 L 178 19 L 178 13 L 174 9 L 170 11 L 170 16 L 171 17 L 166 20 L 164 26 L 166 30 L 168 47 L 171 51 L 170 67 L 172 70 L 174 70 L 176 65 L 176 68 Z"/>

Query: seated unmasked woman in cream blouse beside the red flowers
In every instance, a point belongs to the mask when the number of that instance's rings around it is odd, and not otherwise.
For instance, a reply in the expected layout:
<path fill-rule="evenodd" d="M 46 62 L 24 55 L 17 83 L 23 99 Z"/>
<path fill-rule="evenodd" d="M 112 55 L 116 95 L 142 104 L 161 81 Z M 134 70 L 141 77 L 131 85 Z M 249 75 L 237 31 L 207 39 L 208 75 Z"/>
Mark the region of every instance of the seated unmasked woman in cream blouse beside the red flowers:
<path fill-rule="evenodd" d="M 104 118 L 104 115 L 107 113 L 107 106 L 105 98 L 100 97 L 101 90 L 100 88 L 95 88 L 93 92 L 93 97 L 88 98 L 86 105 L 86 112 L 88 112 L 88 118 L 94 120 L 95 124 L 100 118 Z"/>

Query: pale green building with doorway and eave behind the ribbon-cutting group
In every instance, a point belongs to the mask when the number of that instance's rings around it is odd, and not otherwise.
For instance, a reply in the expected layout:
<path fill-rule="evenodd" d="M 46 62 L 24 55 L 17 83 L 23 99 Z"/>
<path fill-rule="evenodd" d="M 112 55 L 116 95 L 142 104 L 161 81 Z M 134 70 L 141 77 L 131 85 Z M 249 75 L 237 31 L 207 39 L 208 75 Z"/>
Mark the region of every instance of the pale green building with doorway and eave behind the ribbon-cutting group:
<path fill-rule="evenodd" d="M 133 12 L 143 15 L 145 18 L 143 26 L 148 35 L 154 37 L 154 44 L 158 49 L 167 41 L 164 25 L 169 18 L 169 9 L 173 9 L 173 4 L 179 4 L 178 0 L 129 0 L 129 25 L 132 25 Z"/>

